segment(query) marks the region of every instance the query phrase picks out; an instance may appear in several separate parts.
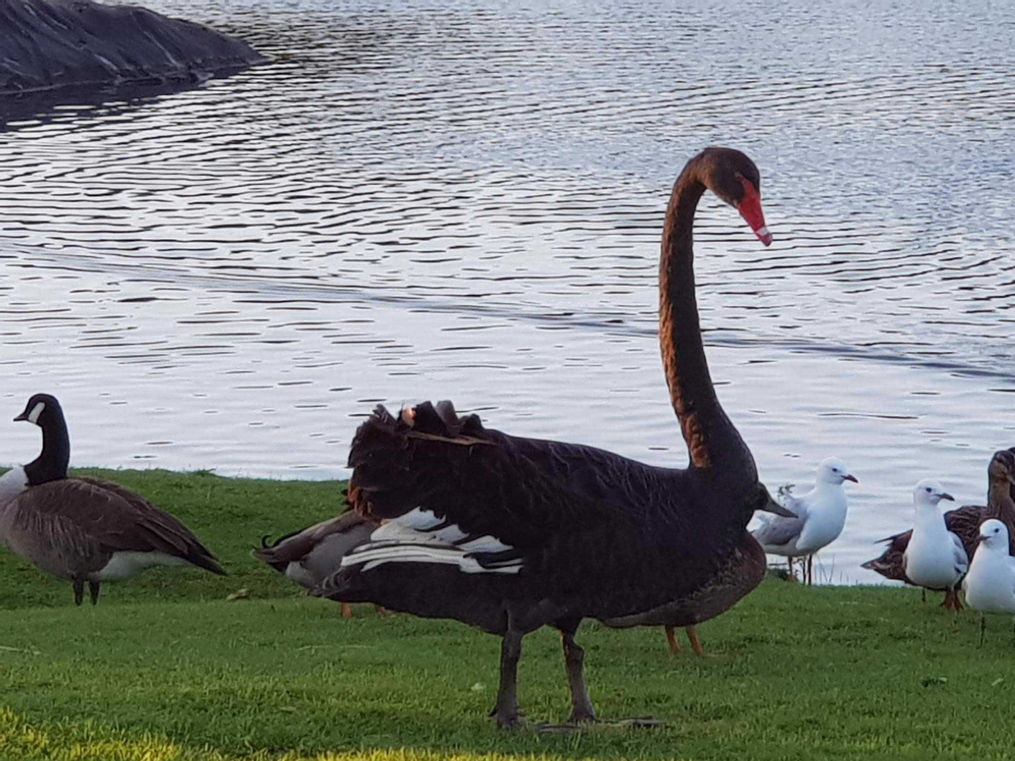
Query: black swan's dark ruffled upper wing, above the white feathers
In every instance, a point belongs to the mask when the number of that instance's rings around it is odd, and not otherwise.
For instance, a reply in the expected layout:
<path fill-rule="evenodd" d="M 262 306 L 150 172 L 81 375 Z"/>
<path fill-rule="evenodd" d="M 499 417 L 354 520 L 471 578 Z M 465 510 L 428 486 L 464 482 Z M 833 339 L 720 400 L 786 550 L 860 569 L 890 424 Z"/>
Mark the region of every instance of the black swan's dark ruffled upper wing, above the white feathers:
<path fill-rule="evenodd" d="M 348 499 L 370 517 L 431 512 L 514 548 L 628 523 L 673 493 L 663 469 L 580 444 L 509 436 L 450 402 L 398 417 L 378 407 L 353 439 Z"/>

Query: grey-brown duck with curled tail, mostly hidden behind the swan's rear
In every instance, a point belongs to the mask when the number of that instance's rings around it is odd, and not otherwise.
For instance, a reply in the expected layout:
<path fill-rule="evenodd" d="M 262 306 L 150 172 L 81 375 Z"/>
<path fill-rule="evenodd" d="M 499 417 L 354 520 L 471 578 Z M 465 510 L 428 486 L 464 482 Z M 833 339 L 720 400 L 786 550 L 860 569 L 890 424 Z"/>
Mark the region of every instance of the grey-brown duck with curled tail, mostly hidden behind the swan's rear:
<path fill-rule="evenodd" d="M 336 517 L 279 537 L 271 545 L 268 538 L 263 537 L 254 557 L 290 581 L 314 590 L 339 569 L 349 550 L 369 541 L 370 534 L 380 527 L 377 521 L 363 517 L 355 510 L 346 510 Z M 380 614 L 385 613 L 381 606 L 375 609 Z M 342 618 L 351 617 L 349 604 L 342 603 Z"/>

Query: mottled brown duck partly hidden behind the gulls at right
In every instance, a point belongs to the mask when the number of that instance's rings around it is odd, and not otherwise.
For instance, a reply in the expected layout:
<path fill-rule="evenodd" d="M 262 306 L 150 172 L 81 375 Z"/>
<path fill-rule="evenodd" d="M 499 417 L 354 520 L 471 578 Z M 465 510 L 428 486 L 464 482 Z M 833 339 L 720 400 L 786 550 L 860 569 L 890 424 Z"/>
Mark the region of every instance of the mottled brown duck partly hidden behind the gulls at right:
<path fill-rule="evenodd" d="M 973 557 L 979 541 L 979 525 L 998 518 L 1008 527 L 1009 552 L 1015 554 L 1015 446 L 994 453 L 987 467 L 987 504 L 966 504 L 945 513 L 945 526 L 962 542 L 967 557 Z M 905 575 L 903 555 L 909 546 L 912 530 L 878 540 L 887 542 L 885 551 L 861 567 L 876 571 L 885 578 L 912 582 Z M 945 608 L 959 608 L 961 603 L 952 593 L 945 593 Z"/>

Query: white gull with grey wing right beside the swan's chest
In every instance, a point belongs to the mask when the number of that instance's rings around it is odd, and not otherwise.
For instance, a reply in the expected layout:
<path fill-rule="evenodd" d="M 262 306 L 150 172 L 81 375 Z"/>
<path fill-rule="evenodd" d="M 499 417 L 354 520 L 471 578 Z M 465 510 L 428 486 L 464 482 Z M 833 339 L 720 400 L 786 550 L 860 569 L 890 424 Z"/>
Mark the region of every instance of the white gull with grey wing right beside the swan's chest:
<path fill-rule="evenodd" d="M 790 559 L 806 557 L 804 576 L 808 583 L 813 581 L 813 555 L 834 542 L 845 525 L 848 500 L 842 489 L 843 481 L 859 483 L 850 475 L 849 469 L 838 458 L 825 458 L 818 465 L 814 478 L 814 488 L 806 494 L 794 496 L 790 488 L 779 490 L 784 507 L 796 513 L 796 517 L 760 516 L 762 525 L 752 532 L 752 536 L 770 555 L 783 555 Z"/>

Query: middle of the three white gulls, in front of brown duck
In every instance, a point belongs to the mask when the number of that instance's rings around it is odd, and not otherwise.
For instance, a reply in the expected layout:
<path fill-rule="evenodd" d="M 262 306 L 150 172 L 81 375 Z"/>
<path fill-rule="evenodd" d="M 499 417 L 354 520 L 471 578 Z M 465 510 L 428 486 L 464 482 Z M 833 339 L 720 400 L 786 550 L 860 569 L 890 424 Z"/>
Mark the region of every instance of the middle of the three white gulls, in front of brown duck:
<path fill-rule="evenodd" d="M 941 484 L 925 479 L 912 489 L 917 506 L 912 537 L 902 553 L 905 575 L 917 586 L 945 592 L 945 608 L 960 611 L 962 604 L 955 589 L 969 568 L 969 558 L 962 540 L 948 531 L 945 516 L 938 509 L 942 499 L 955 500 Z"/>

